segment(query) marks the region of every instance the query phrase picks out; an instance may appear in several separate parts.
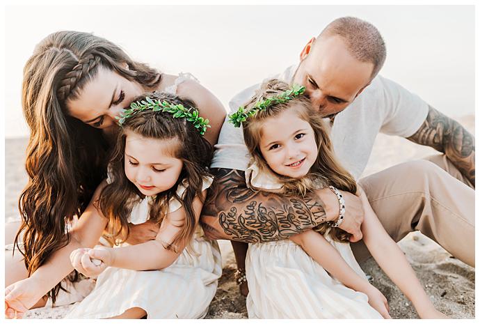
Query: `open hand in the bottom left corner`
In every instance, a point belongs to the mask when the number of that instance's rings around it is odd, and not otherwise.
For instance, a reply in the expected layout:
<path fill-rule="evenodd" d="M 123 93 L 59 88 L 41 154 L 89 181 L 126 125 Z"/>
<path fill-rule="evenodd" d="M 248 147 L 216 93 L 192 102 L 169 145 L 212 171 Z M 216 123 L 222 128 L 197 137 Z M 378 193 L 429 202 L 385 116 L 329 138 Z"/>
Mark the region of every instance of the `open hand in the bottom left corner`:
<path fill-rule="evenodd" d="M 29 277 L 5 288 L 5 317 L 22 318 L 43 297 L 38 279 Z"/>

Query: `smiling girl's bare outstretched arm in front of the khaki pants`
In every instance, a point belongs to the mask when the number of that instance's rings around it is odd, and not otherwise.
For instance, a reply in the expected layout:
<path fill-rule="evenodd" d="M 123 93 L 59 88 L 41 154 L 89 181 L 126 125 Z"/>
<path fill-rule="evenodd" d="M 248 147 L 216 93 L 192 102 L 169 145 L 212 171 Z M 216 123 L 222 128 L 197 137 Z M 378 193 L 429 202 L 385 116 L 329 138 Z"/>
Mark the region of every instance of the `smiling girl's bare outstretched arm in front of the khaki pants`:
<path fill-rule="evenodd" d="M 435 313 L 440 315 L 433 307 L 405 255 L 383 229 L 374 210 L 371 209 L 365 192 L 361 189 L 360 191 L 360 198 L 365 208 L 365 220 L 362 223 L 363 240 L 369 252 L 387 276 L 413 303 L 421 318 L 429 318 Z"/>

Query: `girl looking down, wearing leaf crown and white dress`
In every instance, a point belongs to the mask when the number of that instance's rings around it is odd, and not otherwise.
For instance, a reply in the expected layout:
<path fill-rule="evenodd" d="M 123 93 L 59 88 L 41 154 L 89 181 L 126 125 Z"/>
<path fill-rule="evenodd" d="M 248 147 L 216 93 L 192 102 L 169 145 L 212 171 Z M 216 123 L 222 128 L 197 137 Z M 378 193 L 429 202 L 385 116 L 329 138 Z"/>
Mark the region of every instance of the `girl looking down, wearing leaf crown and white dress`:
<path fill-rule="evenodd" d="M 98 277 L 67 318 L 202 318 L 221 276 L 218 245 L 198 224 L 212 182 L 208 120 L 191 102 L 152 93 L 119 123 L 109 177 L 79 221 L 90 227 L 83 242 L 93 247 L 104 232 L 113 247 L 70 254 L 77 271 Z M 155 240 L 128 245 L 128 223 L 149 219 L 160 225 Z"/>

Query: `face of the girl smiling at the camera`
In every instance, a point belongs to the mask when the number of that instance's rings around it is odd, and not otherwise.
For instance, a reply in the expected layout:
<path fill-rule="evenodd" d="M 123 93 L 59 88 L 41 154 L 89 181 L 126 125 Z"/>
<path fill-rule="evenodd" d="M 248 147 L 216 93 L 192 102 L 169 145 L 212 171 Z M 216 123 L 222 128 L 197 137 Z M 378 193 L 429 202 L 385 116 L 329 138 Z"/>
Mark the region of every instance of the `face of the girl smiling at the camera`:
<path fill-rule="evenodd" d="M 317 160 L 314 131 L 307 121 L 298 117 L 294 108 L 267 118 L 261 134 L 260 151 L 275 173 L 301 178 Z"/>

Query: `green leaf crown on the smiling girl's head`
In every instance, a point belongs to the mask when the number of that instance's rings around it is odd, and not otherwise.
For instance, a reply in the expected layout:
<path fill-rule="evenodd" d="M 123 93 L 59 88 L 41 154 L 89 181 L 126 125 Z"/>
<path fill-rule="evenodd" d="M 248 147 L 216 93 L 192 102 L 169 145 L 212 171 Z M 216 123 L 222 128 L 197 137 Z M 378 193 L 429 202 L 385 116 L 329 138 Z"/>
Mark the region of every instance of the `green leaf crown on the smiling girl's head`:
<path fill-rule="evenodd" d="M 257 114 L 258 111 L 267 109 L 268 107 L 276 104 L 287 102 L 294 97 L 303 94 L 304 92 L 305 86 L 294 84 L 291 89 L 280 93 L 280 95 L 275 95 L 273 97 L 266 98 L 265 100 L 257 102 L 255 106 L 250 108 L 248 111 L 245 111 L 245 108 L 243 106 L 239 107 L 239 110 L 237 110 L 237 112 L 228 116 L 229 122 L 232 123 L 235 127 L 240 127 L 243 121 L 246 121 L 247 118 L 250 116 L 254 116 L 255 114 Z"/>

